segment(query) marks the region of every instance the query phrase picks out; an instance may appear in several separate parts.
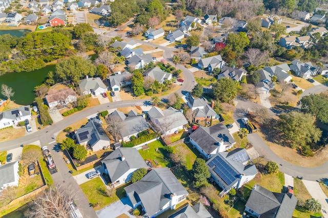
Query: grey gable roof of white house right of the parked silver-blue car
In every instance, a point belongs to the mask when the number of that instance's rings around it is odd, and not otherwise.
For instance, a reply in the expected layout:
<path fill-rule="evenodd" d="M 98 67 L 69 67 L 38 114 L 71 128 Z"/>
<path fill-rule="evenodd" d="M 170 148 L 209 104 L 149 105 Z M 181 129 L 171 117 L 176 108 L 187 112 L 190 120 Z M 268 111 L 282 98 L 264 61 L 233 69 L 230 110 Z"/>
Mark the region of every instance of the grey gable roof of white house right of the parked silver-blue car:
<path fill-rule="evenodd" d="M 121 157 L 125 159 L 122 160 Z M 148 168 L 144 159 L 135 148 L 117 148 L 101 163 L 105 163 L 112 182 L 118 180 L 130 169 Z"/>

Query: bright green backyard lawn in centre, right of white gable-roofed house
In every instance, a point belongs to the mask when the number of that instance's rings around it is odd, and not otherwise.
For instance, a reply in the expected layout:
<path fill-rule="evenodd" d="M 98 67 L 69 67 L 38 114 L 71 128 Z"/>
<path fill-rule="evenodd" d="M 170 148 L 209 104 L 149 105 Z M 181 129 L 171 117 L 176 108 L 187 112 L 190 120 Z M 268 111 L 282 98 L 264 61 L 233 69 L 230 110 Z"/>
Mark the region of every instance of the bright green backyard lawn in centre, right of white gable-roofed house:
<path fill-rule="evenodd" d="M 163 144 L 160 141 L 153 141 L 148 144 L 149 149 L 142 151 L 141 149 L 139 150 L 139 153 L 142 158 L 145 160 L 151 159 L 154 161 L 154 159 L 158 160 L 158 163 L 161 167 L 172 167 L 173 164 L 170 160 L 169 157 L 164 156 L 163 153 L 166 153 L 164 151 Z M 167 159 L 167 160 L 166 160 Z"/>

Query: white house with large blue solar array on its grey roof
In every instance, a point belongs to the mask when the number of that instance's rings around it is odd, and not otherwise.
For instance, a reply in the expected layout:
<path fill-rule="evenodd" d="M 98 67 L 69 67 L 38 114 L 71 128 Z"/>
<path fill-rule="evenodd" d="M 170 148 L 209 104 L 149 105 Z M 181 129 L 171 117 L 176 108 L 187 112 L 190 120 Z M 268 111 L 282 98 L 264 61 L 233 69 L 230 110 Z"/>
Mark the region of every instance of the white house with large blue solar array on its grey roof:
<path fill-rule="evenodd" d="M 234 149 L 219 152 L 206 162 L 211 179 L 223 189 L 220 195 L 227 194 L 232 188 L 238 189 L 254 179 L 257 169 L 254 164 L 249 164 L 250 160 L 246 149 Z"/>

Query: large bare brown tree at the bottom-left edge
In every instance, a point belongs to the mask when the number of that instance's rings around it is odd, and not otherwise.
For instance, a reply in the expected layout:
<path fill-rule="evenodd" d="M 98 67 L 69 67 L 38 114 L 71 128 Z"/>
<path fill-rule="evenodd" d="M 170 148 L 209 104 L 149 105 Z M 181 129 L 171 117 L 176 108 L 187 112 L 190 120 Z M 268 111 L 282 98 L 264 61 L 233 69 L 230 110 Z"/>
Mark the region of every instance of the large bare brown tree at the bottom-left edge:
<path fill-rule="evenodd" d="M 70 203 L 73 198 L 74 196 L 68 188 L 58 185 L 50 186 L 42 193 L 42 196 L 33 201 L 32 206 L 26 211 L 25 215 L 29 218 L 71 217 Z"/>

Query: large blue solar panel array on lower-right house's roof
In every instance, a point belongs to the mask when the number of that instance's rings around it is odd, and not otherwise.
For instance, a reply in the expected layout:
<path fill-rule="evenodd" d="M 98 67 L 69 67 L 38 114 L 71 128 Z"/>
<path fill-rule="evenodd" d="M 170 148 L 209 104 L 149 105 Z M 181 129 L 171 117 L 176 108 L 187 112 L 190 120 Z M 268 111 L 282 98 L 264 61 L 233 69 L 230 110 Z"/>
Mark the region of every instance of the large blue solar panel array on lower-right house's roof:
<path fill-rule="evenodd" d="M 238 173 L 230 166 L 226 161 L 224 161 L 220 156 L 216 156 L 210 163 L 210 167 L 215 166 L 214 172 L 225 182 L 230 185 L 236 180 Z"/>

